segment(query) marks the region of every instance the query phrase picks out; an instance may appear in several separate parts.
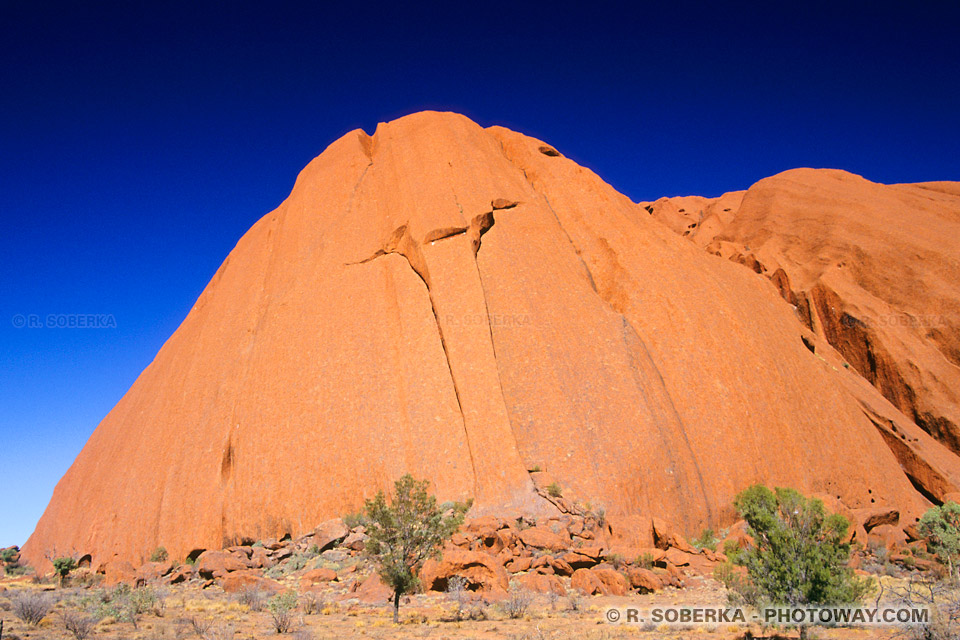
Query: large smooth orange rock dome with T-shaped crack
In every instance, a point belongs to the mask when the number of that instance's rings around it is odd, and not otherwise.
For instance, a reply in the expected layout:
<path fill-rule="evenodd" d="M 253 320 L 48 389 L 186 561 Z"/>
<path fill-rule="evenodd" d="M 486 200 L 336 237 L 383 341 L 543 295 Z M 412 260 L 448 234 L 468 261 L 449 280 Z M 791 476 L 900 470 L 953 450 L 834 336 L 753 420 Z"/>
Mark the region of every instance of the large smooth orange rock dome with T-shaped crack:
<path fill-rule="evenodd" d="M 353 131 L 241 238 L 24 555 L 298 536 L 406 472 L 479 514 L 556 513 L 542 468 L 565 501 L 687 536 L 732 522 L 758 481 L 915 517 L 923 498 L 804 331 L 768 280 L 538 140 L 441 113 Z"/>

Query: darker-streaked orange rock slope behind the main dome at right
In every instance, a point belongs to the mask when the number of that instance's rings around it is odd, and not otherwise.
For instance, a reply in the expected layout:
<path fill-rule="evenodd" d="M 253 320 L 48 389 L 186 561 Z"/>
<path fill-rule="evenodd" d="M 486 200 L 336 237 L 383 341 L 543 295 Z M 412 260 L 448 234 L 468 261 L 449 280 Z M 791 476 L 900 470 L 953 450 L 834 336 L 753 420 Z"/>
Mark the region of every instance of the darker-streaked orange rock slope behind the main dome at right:
<path fill-rule="evenodd" d="M 716 199 L 640 205 L 708 252 L 769 278 L 800 321 L 839 351 L 841 365 L 899 410 L 891 417 L 860 397 L 915 483 L 943 499 L 950 482 L 928 467 L 953 456 L 910 423 L 960 453 L 960 183 L 888 186 L 795 169 Z M 906 450 L 911 442 L 926 448 L 925 463 Z"/>

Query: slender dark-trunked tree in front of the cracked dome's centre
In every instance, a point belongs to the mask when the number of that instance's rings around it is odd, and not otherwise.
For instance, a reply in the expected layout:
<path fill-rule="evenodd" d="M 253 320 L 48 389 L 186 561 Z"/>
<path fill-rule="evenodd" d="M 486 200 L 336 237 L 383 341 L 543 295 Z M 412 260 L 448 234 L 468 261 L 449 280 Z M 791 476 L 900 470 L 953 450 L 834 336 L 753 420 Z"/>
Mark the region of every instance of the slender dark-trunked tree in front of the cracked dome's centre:
<path fill-rule="evenodd" d="M 400 596 L 419 583 L 416 572 L 427 558 L 463 523 L 470 502 L 437 506 L 427 492 L 430 483 L 406 474 L 396 481 L 394 495 L 380 491 L 364 504 L 367 519 L 366 553 L 379 565 L 380 577 L 393 589 L 393 621 L 400 619 Z"/>

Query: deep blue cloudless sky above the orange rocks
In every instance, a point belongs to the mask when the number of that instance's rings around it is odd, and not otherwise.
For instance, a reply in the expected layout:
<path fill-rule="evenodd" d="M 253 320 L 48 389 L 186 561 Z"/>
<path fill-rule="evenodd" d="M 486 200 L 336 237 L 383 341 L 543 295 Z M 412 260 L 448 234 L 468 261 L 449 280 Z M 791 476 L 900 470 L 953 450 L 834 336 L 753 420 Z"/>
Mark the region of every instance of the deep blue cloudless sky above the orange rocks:
<path fill-rule="evenodd" d="M 960 179 L 957 2 L 146 4 L 0 0 L 0 546 L 26 540 L 237 239 L 350 129 L 459 111 L 634 200 L 797 166 Z M 116 326 L 14 327 L 78 313 Z"/>

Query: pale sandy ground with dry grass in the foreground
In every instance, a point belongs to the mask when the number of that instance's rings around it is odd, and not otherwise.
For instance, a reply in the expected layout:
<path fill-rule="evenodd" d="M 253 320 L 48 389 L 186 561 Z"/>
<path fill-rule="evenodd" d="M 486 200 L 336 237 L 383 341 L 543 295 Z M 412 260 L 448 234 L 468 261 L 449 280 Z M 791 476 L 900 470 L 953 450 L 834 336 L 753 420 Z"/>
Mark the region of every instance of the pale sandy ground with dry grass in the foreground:
<path fill-rule="evenodd" d="M 291 585 L 292 586 L 292 585 Z M 63 638 L 73 636 L 64 628 L 61 611 L 76 608 L 81 599 L 96 598 L 98 588 L 67 587 L 56 589 L 50 584 L 37 584 L 31 579 L 6 579 L 0 582 L 0 620 L 4 623 L 4 640 Z M 20 621 L 10 610 L 11 589 L 46 590 L 58 602 L 39 626 Z M 456 603 L 446 594 L 421 594 L 404 598 L 400 624 L 393 624 L 389 605 L 362 604 L 355 600 L 336 601 L 333 592 L 320 593 L 322 610 L 304 614 L 295 611 L 293 628 L 278 635 L 269 611 L 253 611 L 242 604 L 236 594 L 226 594 L 218 587 L 202 589 L 199 584 L 184 584 L 158 589 L 164 606 L 160 611 L 144 613 L 135 628 L 130 622 L 111 618 L 101 620 L 90 638 L 101 640 L 327 640 L 334 638 L 414 639 L 511 639 L 511 640 L 616 640 L 621 638 L 743 638 L 748 631 L 754 637 L 773 636 L 774 629 L 758 625 L 703 625 L 679 627 L 661 624 L 610 624 L 606 612 L 611 607 L 649 609 L 668 605 L 723 605 L 726 592 L 716 581 L 694 577 L 684 589 L 665 589 L 656 594 L 624 597 L 593 596 L 571 598 L 532 597 L 529 608 L 519 618 L 508 616 L 503 603 L 484 604 L 478 601 L 464 605 L 464 615 L 474 619 L 456 620 Z M 192 620 L 200 627 L 198 633 Z M 786 637 L 797 637 L 796 630 L 780 630 Z M 892 630 L 877 628 L 823 629 L 811 631 L 811 638 L 856 639 L 890 638 Z"/>

